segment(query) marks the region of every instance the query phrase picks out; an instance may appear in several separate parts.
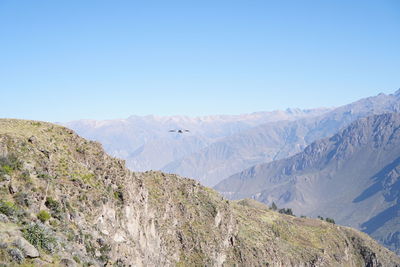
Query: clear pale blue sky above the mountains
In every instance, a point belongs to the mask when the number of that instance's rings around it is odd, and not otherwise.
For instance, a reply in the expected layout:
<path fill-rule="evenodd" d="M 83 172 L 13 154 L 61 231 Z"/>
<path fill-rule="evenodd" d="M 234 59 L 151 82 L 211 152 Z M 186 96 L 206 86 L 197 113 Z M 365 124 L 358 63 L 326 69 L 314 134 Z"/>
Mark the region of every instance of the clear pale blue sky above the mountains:
<path fill-rule="evenodd" d="M 0 0 L 0 117 L 239 114 L 399 87 L 398 0 Z"/>

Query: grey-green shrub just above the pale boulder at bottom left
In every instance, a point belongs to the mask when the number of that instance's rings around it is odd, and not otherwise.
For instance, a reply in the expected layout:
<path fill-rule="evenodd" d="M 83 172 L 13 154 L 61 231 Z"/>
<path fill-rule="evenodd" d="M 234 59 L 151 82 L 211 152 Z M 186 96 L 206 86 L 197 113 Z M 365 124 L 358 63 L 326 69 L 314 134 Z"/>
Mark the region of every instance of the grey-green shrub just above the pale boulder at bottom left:
<path fill-rule="evenodd" d="M 57 248 L 57 241 L 44 227 L 33 224 L 23 230 L 23 236 L 36 248 L 42 248 L 53 253 Z"/>

